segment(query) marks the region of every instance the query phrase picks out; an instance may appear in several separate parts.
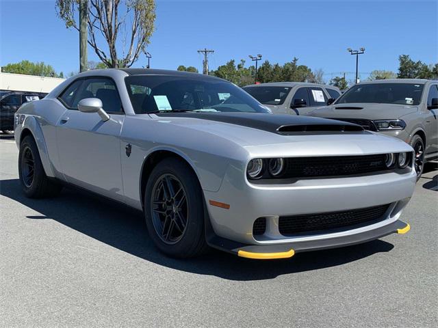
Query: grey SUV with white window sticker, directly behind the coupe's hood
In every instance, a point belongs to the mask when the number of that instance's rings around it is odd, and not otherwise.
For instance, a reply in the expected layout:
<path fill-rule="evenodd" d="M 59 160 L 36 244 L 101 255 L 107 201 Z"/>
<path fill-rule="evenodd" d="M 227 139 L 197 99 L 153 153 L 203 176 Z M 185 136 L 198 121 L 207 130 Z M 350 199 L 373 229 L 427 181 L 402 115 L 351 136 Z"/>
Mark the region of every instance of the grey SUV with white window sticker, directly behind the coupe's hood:
<path fill-rule="evenodd" d="M 305 82 L 272 82 L 246 85 L 244 90 L 275 114 L 306 115 L 341 95 L 339 88 Z"/>

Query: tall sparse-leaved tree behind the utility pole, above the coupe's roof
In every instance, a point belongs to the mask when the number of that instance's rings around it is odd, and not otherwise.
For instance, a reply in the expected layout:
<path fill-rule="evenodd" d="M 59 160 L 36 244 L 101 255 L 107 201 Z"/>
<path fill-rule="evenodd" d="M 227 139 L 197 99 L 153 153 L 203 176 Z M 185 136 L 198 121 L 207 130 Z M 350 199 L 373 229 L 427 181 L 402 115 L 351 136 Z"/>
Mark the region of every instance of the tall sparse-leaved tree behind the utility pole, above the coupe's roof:
<path fill-rule="evenodd" d="M 141 53 L 146 51 L 155 29 L 154 0 L 125 0 L 125 13 L 119 14 L 120 0 L 88 1 L 88 44 L 107 67 L 131 67 Z M 76 12 L 77 0 L 56 0 L 58 16 L 67 28 L 79 31 Z M 131 20 L 128 21 L 127 18 Z M 127 31 L 129 26 L 129 31 Z M 116 45 L 122 35 L 122 55 Z M 103 36 L 107 49 L 98 44 L 97 37 Z M 126 44 L 128 42 L 128 46 Z"/>

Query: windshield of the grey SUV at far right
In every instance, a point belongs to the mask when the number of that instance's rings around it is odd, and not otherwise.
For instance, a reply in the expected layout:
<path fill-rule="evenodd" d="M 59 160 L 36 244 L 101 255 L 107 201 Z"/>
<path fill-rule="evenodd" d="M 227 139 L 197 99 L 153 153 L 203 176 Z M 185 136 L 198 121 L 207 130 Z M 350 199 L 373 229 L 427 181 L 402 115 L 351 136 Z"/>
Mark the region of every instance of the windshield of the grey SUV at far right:
<path fill-rule="evenodd" d="M 375 102 L 378 104 L 418 105 L 422 99 L 424 84 L 370 83 L 359 84 L 343 94 L 337 104 L 351 102 Z"/>

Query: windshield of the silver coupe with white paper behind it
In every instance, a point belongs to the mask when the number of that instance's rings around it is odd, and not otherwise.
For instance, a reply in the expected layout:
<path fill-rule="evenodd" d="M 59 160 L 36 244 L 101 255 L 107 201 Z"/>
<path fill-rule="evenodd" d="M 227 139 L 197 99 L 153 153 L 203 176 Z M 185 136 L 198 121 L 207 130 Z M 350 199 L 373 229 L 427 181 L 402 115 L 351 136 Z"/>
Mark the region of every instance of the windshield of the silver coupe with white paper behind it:
<path fill-rule="evenodd" d="M 171 111 L 269 113 L 233 83 L 194 75 L 134 75 L 125 78 L 137 114 Z"/>

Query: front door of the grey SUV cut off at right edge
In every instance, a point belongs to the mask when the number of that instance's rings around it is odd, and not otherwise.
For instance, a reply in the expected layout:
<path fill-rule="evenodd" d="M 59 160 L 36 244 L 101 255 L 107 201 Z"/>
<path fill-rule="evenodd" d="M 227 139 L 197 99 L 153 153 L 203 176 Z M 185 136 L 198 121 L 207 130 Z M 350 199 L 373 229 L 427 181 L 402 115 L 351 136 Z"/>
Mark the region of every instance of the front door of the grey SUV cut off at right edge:
<path fill-rule="evenodd" d="M 426 156 L 434 152 L 438 152 L 438 109 L 431 109 L 432 99 L 438 98 L 438 85 L 432 84 L 429 87 L 427 96 L 427 107 L 425 109 L 426 119 L 424 127 L 426 128 Z"/>

